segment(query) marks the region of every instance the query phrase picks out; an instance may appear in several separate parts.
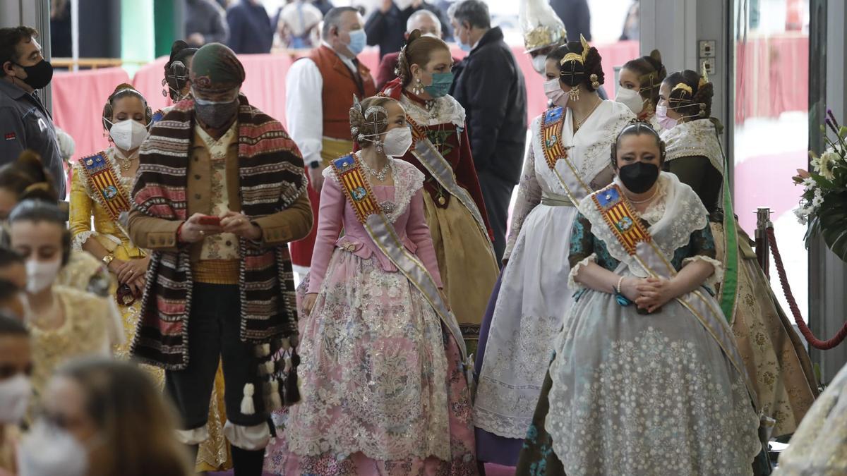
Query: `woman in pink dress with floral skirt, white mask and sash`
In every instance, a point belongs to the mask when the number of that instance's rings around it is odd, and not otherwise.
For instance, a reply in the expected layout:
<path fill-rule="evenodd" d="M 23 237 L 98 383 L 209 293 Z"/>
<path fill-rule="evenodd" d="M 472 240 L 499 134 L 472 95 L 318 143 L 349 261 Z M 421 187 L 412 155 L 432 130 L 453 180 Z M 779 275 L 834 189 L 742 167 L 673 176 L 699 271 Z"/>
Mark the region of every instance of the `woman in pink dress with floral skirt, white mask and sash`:
<path fill-rule="evenodd" d="M 389 97 L 371 97 L 351 109 L 351 129 L 362 150 L 324 170 L 312 270 L 302 285 L 302 401 L 291 407 L 266 469 L 475 474 L 463 346 L 455 318 L 438 303 L 424 174 L 392 158 L 412 144 L 405 112 Z M 362 194 L 373 198 L 370 212 Z M 374 219 L 387 224 L 381 235 Z M 418 263 L 424 279 L 407 278 L 403 263 Z"/>

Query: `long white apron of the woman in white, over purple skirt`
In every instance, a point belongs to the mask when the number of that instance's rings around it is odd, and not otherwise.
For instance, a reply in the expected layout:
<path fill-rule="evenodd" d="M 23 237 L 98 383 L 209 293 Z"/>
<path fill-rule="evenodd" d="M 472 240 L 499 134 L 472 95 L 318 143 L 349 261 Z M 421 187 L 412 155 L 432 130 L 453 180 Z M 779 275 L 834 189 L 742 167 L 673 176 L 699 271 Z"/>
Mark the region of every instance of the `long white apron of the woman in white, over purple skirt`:
<path fill-rule="evenodd" d="M 479 441 L 502 443 L 496 451 L 479 446 L 484 461 L 513 465 L 532 421 L 553 336 L 573 300 L 567 256 L 576 214 L 573 207 L 536 207 L 503 270 L 473 407 Z"/>

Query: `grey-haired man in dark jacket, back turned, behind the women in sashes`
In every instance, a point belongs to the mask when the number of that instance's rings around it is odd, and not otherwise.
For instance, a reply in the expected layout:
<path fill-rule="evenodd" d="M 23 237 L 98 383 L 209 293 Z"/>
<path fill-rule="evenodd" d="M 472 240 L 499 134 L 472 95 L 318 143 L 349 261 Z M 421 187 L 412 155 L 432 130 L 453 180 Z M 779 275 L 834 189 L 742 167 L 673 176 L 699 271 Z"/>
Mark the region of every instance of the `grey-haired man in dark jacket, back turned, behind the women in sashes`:
<path fill-rule="evenodd" d="M 465 108 L 473 163 L 499 260 L 506 249 L 512 189 L 518 184 L 523 165 L 526 87 L 512 49 L 503 42 L 503 32 L 500 27 L 491 28 L 484 2 L 457 2 L 448 14 L 453 36 L 462 49 L 470 51 L 454 69 L 451 94 Z"/>

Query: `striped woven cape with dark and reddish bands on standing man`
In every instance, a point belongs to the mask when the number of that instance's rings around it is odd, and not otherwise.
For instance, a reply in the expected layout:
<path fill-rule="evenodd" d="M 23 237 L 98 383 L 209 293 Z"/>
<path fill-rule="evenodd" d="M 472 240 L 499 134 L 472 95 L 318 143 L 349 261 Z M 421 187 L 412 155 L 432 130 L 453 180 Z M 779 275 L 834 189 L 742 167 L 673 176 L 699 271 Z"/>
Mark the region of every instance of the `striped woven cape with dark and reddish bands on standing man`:
<path fill-rule="evenodd" d="M 242 212 L 259 217 L 279 212 L 306 189 L 303 160 L 280 122 L 240 96 L 238 171 Z M 132 206 L 150 217 L 185 220 L 186 179 L 194 136 L 194 102 L 179 102 L 152 127 L 141 146 Z M 291 257 L 284 245 L 260 247 L 240 240 L 241 335 L 266 357 L 296 343 L 297 315 Z M 188 365 L 191 312 L 188 246 L 178 252 L 153 252 L 141 300 L 141 322 L 132 343 L 141 361 L 169 370 Z M 289 338 L 292 338 L 289 340 Z"/>

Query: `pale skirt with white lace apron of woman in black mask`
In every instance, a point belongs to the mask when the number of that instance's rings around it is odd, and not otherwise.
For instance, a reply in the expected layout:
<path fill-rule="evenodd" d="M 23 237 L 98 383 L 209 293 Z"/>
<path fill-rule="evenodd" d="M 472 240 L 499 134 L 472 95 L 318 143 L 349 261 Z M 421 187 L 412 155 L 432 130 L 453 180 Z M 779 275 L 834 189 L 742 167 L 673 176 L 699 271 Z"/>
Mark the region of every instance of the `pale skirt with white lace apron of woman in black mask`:
<path fill-rule="evenodd" d="M 555 351 L 518 474 L 752 474 L 744 377 L 679 302 L 645 316 L 588 291 Z"/>

